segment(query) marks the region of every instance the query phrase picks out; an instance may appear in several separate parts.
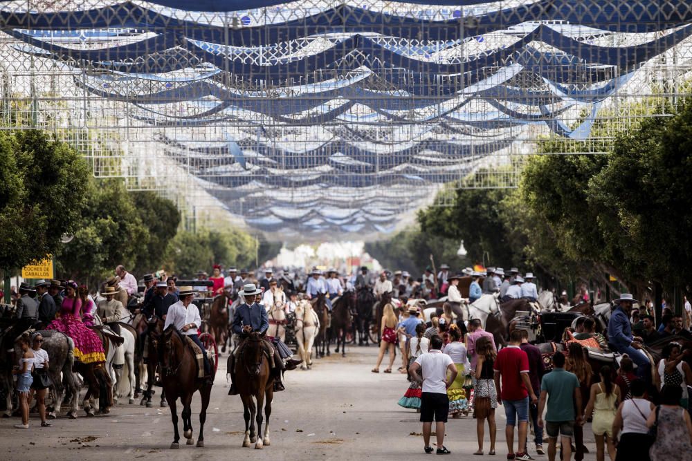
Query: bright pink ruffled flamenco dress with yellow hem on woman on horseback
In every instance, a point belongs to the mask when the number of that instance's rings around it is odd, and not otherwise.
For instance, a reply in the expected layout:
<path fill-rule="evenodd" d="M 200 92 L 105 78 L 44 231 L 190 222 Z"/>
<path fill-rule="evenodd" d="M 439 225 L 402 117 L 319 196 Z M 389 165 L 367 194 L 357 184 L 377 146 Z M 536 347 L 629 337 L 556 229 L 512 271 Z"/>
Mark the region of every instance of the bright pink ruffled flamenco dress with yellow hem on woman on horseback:
<path fill-rule="evenodd" d="M 82 364 L 106 361 L 103 344 L 95 332 L 82 323 L 80 299 L 65 298 L 60 306 L 60 317 L 56 317 L 46 330 L 57 330 L 75 342 L 75 359 Z"/>

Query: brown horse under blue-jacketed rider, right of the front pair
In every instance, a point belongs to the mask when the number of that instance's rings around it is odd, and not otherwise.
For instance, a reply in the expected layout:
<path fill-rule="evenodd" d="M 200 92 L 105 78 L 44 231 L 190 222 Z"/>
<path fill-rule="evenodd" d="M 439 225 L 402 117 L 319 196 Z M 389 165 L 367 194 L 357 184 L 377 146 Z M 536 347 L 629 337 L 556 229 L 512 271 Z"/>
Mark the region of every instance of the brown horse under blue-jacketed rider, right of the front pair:
<path fill-rule="evenodd" d="M 264 445 L 270 444 L 269 416 L 274 398 L 274 379 L 271 378 L 271 366 L 264 352 L 260 333 L 252 332 L 245 341 L 242 354 L 235 363 L 235 385 L 243 401 L 243 417 L 245 418 L 243 446 L 247 448 L 254 443 L 255 449 L 262 449 Z M 229 367 L 231 366 L 230 359 L 231 357 L 228 357 Z M 262 406 L 264 406 L 266 417 L 264 435 L 262 435 Z M 255 433 L 255 418 L 257 433 Z"/>

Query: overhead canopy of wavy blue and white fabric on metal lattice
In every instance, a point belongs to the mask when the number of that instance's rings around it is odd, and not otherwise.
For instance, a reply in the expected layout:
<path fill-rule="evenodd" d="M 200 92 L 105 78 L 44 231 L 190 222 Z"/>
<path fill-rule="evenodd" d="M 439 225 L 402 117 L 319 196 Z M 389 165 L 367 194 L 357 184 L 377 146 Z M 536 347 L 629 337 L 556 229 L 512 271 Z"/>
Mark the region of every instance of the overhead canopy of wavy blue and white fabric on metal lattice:
<path fill-rule="evenodd" d="M 363 234 L 689 93 L 689 1 L 425 1 L 0 1 L 0 116 L 194 216 Z"/>

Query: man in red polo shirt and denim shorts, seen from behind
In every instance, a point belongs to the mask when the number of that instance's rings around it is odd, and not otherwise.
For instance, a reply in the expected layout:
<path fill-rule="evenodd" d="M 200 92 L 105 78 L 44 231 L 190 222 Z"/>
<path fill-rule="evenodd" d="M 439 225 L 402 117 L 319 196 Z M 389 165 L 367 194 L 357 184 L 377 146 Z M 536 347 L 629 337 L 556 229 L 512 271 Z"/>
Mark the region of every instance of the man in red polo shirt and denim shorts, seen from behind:
<path fill-rule="evenodd" d="M 521 330 L 514 330 L 509 337 L 509 346 L 498 352 L 495 360 L 495 387 L 498 388 L 500 404 L 504 406 L 507 427 L 504 435 L 507 438 L 507 459 L 531 461 L 526 450 L 526 435 L 529 428 L 529 396 L 531 403 L 538 398 L 531 387 L 529 379 L 529 357 L 521 350 Z M 501 384 L 501 385 L 500 385 Z M 519 449 L 514 453 L 514 426 L 519 420 Z"/>

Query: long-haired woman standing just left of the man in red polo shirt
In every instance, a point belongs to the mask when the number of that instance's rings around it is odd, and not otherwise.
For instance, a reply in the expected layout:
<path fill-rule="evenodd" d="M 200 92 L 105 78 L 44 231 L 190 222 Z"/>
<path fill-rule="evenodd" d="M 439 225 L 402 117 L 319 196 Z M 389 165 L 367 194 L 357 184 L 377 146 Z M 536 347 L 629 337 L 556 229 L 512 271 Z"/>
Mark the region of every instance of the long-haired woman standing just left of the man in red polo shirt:
<path fill-rule="evenodd" d="M 478 451 L 475 455 L 483 454 L 483 438 L 485 420 L 488 420 L 490 433 L 489 455 L 495 454 L 495 437 L 498 426 L 495 424 L 495 408 L 498 408 L 498 389 L 495 388 L 495 359 L 498 357 L 493 343 L 487 337 L 480 337 L 475 344 L 478 361 L 475 369 L 475 399 L 476 435 L 478 438 Z"/>

